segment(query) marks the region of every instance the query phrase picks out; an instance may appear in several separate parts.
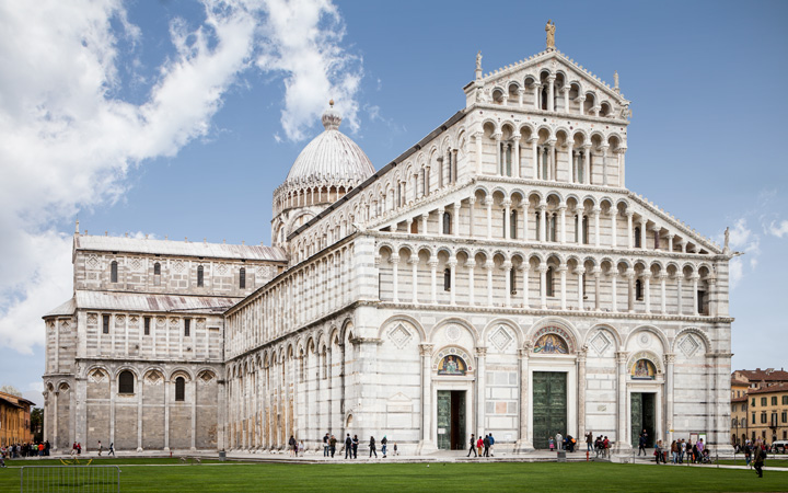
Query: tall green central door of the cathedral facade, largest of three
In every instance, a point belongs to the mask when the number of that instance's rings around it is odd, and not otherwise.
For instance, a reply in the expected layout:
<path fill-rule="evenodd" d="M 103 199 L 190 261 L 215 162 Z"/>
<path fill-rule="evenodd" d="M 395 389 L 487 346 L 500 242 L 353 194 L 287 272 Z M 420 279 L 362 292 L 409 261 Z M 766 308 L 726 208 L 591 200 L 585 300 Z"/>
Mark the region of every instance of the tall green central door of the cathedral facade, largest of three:
<path fill-rule="evenodd" d="M 559 371 L 533 372 L 533 444 L 534 448 L 548 448 L 549 437 L 567 433 L 567 374 Z"/>

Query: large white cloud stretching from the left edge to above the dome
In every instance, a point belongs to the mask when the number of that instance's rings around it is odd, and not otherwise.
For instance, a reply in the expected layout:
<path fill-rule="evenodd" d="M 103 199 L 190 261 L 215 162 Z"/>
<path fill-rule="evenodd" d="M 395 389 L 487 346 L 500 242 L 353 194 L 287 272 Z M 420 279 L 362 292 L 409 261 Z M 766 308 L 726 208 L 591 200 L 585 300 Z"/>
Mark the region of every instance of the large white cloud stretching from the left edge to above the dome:
<path fill-rule="evenodd" d="M 351 57 L 336 45 L 344 28 L 328 1 L 202 4 L 196 25 L 172 20 L 172 54 L 132 103 L 118 95 L 118 67 L 139 60 L 118 45 L 134 50 L 143 33 L 120 0 L 0 2 L 0 347 L 30 354 L 44 339 L 42 314 L 71 296 L 71 238 L 57 227 L 121 197 L 129 167 L 208 135 L 240 73 L 286 72 L 290 138 L 329 93 L 357 125 L 361 71 L 340 73 Z"/>

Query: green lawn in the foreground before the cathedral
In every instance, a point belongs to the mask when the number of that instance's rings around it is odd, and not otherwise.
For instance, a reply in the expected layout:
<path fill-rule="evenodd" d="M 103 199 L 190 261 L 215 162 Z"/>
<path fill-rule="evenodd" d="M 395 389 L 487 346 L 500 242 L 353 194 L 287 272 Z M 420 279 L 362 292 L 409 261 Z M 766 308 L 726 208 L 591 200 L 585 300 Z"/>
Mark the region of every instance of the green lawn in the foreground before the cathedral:
<path fill-rule="evenodd" d="M 786 491 L 788 472 L 764 479 L 750 470 L 614 465 L 517 463 L 223 463 L 181 466 L 176 459 L 102 459 L 121 466 L 123 492 L 733 492 Z M 39 462 L 39 461 L 36 461 Z M 30 462 L 28 462 L 30 463 Z M 42 465 L 46 463 L 40 461 Z M 0 469 L 0 491 L 19 491 L 20 469 Z"/>

